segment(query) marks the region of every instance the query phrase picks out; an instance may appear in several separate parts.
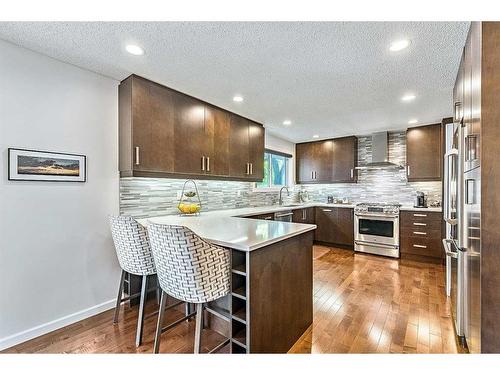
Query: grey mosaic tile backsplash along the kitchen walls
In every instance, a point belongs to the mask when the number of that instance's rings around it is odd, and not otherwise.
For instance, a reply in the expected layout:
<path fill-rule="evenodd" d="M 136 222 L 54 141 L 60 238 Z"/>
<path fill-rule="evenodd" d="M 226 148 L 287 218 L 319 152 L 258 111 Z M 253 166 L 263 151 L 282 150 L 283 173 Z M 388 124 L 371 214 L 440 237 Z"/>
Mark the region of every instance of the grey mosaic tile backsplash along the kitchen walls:
<path fill-rule="evenodd" d="M 406 132 L 389 133 L 389 160 L 406 164 Z M 358 165 L 371 161 L 371 137 L 358 138 Z M 166 178 L 120 179 L 120 212 L 134 217 L 177 213 L 178 193 L 185 180 Z M 254 191 L 253 183 L 197 180 L 203 211 L 256 207 L 276 204 L 278 193 Z M 405 169 L 359 170 L 357 184 L 295 185 L 285 202 L 298 201 L 305 189 L 313 201 L 326 202 L 328 195 L 348 198 L 349 202 L 399 202 L 411 205 L 416 191 L 423 191 L 429 203 L 441 201 L 441 183 L 408 183 Z M 189 188 L 188 190 L 192 190 Z M 293 191 L 292 191 L 293 190 Z"/>

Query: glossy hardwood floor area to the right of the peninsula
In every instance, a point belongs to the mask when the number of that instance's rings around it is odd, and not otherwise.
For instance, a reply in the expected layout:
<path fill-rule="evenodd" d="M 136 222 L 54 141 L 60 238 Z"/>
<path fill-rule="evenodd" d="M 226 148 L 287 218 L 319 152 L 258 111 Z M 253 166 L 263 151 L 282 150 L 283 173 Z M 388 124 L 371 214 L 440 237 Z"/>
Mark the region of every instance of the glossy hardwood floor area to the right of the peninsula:
<path fill-rule="evenodd" d="M 444 267 L 315 246 L 313 325 L 290 353 L 457 353 Z"/>

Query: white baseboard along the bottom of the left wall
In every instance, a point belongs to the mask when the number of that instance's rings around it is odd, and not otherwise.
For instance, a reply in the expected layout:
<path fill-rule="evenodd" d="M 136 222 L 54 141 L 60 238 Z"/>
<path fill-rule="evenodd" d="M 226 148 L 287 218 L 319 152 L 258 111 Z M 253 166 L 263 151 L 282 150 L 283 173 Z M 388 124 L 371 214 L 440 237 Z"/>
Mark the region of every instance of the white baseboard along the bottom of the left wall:
<path fill-rule="evenodd" d="M 22 342 L 34 339 L 38 336 L 45 335 L 46 333 L 55 331 L 56 329 L 65 327 L 67 325 L 79 322 L 80 320 L 89 318 L 91 316 L 100 314 L 106 310 L 115 307 L 116 300 L 112 299 L 98 305 L 89 307 L 88 309 L 78 311 L 76 313 L 63 316 L 62 318 L 52 320 L 33 328 L 29 328 L 25 331 L 15 333 L 13 335 L 4 337 L 0 339 L 0 350 L 10 348 L 14 345 L 20 344 Z"/>

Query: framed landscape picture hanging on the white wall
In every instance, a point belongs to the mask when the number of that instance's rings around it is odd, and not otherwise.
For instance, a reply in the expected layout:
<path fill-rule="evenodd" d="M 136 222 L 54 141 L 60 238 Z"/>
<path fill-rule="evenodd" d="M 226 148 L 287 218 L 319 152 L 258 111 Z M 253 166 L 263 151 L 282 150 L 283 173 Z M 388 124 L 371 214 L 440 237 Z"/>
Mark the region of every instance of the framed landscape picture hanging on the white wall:
<path fill-rule="evenodd" d="M 87 157 L 9 148 L 9 180 L 85 182 Z"/>

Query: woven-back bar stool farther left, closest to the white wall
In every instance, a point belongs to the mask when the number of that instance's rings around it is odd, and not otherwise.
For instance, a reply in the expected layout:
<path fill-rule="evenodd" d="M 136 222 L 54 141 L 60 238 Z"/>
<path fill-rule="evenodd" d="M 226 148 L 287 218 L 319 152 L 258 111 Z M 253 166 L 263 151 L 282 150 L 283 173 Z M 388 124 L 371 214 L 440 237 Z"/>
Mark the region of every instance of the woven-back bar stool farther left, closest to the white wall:
<path fill-rule="evenodd" d="M 111 226 L 113 242 L 115 243 L 118 262 L 122 268 L 113 323 L 118 323 L 121 303 L 140 295 L 139 316 L 137 318 L 137 332 L 135 339 L 135 345 L 138 347 L 142 343 L 142 330 L 145 318 L 144 302 L 146 295 L 151 291 L 158 290 L 158 287 L 147 290 L 148 276 L 156 274 L 153 254 L 151 253 L 148 241 L 148 232 L 146 228 L 130 216 L 110 216 L 109 223 Z M 142 285 L 140 293 L 135 293 L 126 298 L 122 298 L 123 281 L 125 279 L 126 272 L 142 276 Z M 148 315 L 147 317 L 154 314 L 155 313 Z"/>

